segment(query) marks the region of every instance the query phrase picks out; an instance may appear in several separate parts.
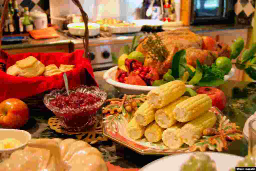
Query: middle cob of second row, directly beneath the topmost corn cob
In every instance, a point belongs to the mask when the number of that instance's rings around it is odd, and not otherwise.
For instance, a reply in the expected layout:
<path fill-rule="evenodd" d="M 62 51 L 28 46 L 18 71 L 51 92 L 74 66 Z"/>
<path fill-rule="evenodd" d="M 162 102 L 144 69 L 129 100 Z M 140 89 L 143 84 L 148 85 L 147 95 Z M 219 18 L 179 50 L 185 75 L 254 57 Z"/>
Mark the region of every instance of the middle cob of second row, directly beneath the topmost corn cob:
<path fill-rule="evenodd" d="M 175 124 L 177 120 L 174 118 L 173 109 L 176 107 L 177 104 L 183 102 L 184 100 L 187 100 L 188 98 L 188 96 L 182 96 L 177 101 L 158 109 L 155 114 L 156 123 L 162 128 L 169 128 L 170 126 Z"/>

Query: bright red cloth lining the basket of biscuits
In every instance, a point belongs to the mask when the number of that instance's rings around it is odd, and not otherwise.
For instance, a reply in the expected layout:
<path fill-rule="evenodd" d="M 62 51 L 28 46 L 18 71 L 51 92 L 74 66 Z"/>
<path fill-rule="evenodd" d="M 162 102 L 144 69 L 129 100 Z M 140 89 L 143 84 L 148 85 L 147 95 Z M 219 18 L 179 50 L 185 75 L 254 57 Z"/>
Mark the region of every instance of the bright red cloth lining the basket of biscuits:
<path fill-rule="evenodd" d="M 78 86 L 86 84 L 88 86 L 98 86 L 94 79 L 93 69 L 89 59 L 83 58 L 83 50 L 76 50 L 73 53 L 23 53 L 16 55 L 8 55 L 1 51 L 0 62 L 6 64 L 6 68 L 14 65 L 16 61 L 24 59 L 28 56 L 34 56 L 40 60 L 45 66 L 55 64 L 75 65 L 75 69 L 66 72 L 69 86 Z M 6 74 L 0 70 L 0 102 L 8 98 L 25 99 L 29 96 L 42 93 L 56 88 L 65 86 L 63 73 L 53 76 L 38 76 L 33 78 L 17 77 Z"/>

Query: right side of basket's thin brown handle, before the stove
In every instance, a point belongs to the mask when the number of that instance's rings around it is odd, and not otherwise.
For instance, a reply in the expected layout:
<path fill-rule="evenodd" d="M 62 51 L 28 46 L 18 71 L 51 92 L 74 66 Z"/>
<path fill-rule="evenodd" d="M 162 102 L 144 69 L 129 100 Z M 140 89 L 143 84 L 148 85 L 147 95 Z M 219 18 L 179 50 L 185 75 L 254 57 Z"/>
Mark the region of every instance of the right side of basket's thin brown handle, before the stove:
<path fill-rule="evenodd" d="M 89 30 L 88 30 L 88 15 L 86 12 L 84 12 L 83 7 L 79 0 L 72 0 L 72 2 L 80 9 L 82 17 L 83 17 L 83 22 L 85 26 L 85 31 L 84 31 L 84 36 L 83 36 L 83 46 L 84 46 L 84 55 L 86 58 L 89 58 Z M 90 58 L 89 58 L 90 60 Z"/>

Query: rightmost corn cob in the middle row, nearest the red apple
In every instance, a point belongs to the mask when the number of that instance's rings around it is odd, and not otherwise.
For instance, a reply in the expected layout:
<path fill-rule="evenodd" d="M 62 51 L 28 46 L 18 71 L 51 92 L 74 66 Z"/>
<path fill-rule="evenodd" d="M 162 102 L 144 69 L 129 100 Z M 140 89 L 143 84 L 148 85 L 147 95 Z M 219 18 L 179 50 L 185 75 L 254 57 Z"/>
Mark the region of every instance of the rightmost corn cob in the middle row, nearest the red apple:
<path fill-rule="evenodd" d="M 206 113 L 212 106 L 207 94 L 199 94 L 176 105 L 173 110 L 174 118 L 179 122 L 187 122 Z"/>

